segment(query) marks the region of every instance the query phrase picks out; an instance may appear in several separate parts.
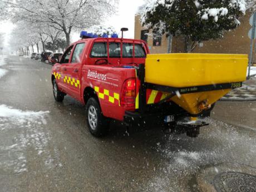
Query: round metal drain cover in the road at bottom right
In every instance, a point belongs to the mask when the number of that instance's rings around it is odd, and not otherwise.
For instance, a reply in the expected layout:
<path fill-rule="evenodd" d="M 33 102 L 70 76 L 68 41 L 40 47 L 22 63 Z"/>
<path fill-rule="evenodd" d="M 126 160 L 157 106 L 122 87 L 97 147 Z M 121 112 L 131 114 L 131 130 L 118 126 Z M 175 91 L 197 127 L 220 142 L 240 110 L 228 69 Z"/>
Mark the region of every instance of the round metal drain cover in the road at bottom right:
<path fill-rule="evenodd" d="M 256 192 L 256 176 L 238 172 L 220 173 L 214 178 L 218 192 Z"/>

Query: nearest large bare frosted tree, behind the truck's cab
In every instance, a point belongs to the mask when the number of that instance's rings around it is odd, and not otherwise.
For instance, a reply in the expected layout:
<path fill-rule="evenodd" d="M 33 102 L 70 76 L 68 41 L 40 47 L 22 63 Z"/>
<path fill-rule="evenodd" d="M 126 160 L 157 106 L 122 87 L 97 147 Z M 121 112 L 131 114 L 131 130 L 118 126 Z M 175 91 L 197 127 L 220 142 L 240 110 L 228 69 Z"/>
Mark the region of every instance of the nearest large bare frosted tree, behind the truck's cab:
<path fill-rule="evenodd" d="M 89 28 L 115 11 L 117 0 L 2 0 L 12 21 L 43 23 L 64 33 L 70 44 L 73 29 Z"/>

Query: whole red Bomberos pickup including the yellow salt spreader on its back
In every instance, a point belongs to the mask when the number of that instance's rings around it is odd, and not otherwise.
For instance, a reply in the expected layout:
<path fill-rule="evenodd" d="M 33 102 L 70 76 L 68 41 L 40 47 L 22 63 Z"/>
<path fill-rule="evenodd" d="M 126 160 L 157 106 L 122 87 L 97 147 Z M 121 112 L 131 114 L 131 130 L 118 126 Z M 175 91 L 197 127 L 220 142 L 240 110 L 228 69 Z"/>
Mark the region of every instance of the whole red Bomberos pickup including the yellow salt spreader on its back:
<path fill-rule="evenodd" d="M 216 101 L 246 78 L 247 55 L 151 55 L 146 42 L 81 32 L 52 67 L 57 102 L 69 95 L 86 106 L 88 129 L 107 133 L 111 119 L 127 127 L 170 124 L 199 135 Z"/>

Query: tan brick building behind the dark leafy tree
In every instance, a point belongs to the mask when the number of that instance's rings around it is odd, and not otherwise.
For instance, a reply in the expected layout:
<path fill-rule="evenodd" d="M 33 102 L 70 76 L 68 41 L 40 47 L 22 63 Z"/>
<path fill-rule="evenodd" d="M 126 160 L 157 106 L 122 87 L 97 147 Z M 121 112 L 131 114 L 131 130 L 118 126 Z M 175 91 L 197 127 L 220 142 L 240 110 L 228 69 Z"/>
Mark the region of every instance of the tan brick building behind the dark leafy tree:
<path fill-rule="evenodd" d="M 248 31 L 252 27 L 249 24 L 251 12 L 240 19 L 240 26 L 232 31 L 225 32 L 224 38 L 219 40 L 204 41 L 200 46 L 196 46 L 193 53 L 242 53 L 250 52 L 250 39 Z M 150 35 L 147 37 L 145 33 Z M 151 53 L 167 53 L 168 38 L 165 35 L 153 38 L 152 31 L 143 28 L 140 23 L 140 16 L 135 16 L 135 39 L 146 40 Z M 171 53 L 184 51 L 184 41 L 182 37 L 173 37 L 170 41 Z M 203 45 L 202 45 L 203 44 Z"/>

